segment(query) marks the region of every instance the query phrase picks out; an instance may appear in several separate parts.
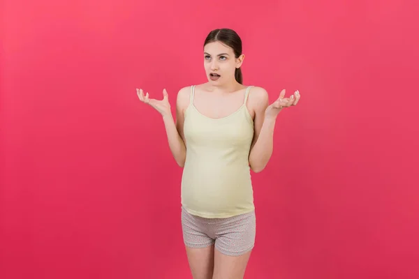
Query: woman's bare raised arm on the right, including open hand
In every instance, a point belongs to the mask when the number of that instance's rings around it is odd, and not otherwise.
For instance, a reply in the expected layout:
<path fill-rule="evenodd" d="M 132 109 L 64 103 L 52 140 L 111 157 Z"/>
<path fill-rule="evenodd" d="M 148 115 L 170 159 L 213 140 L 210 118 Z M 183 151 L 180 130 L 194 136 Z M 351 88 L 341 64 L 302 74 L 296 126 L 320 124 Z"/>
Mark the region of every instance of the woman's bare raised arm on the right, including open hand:
<path fill-rule="evenodd" d="M 272 156 L 277 116 L 284 107 L 297 105 L 298 100 L 300 100 L 300 92 L 295 91 L 290 98 L 284 98 L 284 89 L 279 94 L 279 98 L 269 105 L 267 91 L 260 87 L 256 90 L 252 94 L 254 97 L 255 116 L 253 123 L 255 133 L 249 154 L 249 164 L 253 172 L 261 172 Z"/>

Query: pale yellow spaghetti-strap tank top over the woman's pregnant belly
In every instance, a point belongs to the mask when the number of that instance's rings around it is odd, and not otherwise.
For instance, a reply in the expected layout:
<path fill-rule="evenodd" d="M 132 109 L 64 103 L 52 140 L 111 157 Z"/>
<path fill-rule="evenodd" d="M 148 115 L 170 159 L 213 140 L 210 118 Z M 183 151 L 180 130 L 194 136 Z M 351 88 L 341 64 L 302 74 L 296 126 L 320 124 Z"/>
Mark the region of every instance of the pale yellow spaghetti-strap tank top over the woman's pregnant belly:
<path fill-rule="evenodd" d="M 185 111 L 186 161 L 182 174 L 182 206 L 204 218 L 228 218 L 254 209 L 249 167 L 253 119 L 243 105 L 233 114 L 212 119 L 193 105 L 195 86 Z"/>

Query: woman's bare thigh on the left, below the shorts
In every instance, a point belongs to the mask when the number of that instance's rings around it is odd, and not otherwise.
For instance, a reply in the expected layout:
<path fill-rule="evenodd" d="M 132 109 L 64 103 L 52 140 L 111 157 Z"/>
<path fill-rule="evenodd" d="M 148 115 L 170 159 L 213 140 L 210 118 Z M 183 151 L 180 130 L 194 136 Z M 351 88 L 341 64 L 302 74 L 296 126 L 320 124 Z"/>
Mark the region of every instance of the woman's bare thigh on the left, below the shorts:
<path fill-rule="evenodd" d="M 205 248 L 186 246 L 189 268 L 193 279 L 212 279 L 214 271 L 214 245 Z"/>

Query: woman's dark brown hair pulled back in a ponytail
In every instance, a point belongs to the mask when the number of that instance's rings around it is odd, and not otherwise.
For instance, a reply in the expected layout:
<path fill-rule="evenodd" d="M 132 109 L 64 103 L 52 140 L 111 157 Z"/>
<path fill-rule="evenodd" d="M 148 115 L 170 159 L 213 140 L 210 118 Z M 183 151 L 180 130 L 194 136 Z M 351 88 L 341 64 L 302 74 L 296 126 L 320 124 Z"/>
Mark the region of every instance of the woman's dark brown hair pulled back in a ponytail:
<path fill-rule="evenodd" d="M 237 35 L 237 33 L 232 29 L 214 29 L 212 30 L 207 38 L 205 38 L 205 45 L 207 43 L 213 43 L 213 42 L 221 42 L 224 45 L 227 45 L 228 47 L 231 47 L 234 51 L 235 58 L 238 58 L 240 55 L 242 55 L 242 39 L 240 39 L 240 36 Z M 240 84 L 243 84 L 243 74 L 241 68 L 235 69 L 235 80 L 239 82 Z"/>

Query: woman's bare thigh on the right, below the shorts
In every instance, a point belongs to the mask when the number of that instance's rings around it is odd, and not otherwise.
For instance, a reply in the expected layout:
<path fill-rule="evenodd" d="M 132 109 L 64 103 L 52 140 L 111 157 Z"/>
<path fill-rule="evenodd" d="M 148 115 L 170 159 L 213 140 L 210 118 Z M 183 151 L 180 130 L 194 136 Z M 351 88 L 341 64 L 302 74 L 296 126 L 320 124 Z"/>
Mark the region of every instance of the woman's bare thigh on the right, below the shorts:
<path fill-rule="evenodd" d="M 240 256 L 228 256 L 215 250 L 213 279 L 243 279 L 250 255 L 251 251 Z"/>

